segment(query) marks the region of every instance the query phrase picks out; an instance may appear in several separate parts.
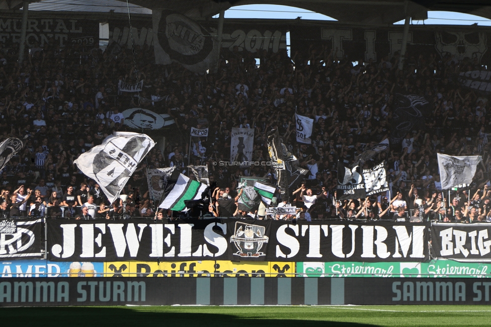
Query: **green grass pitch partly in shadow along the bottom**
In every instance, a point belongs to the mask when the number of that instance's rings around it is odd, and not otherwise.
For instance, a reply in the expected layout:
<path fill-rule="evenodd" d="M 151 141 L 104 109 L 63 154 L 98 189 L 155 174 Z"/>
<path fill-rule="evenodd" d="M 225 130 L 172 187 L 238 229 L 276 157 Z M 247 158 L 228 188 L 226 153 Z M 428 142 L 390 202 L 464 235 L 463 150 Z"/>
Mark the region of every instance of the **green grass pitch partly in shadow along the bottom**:
<path fill-rule="evenodd" d="M 3 326 L 490 326 L 491 306 L 115 306 L 1 308 Z M 25 324 L 22 322 L 24 321 Z"/>

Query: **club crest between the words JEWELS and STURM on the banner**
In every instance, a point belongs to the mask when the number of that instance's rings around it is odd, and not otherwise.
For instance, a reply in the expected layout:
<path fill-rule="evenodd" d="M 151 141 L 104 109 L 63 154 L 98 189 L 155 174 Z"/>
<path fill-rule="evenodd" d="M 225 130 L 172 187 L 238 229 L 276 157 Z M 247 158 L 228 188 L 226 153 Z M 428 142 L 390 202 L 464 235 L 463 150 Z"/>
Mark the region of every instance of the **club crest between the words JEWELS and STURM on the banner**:
<path fill-rule="evenodd" d="M 269 237 L 265 236 L 265 229 L 264 226 L 235 222 L 233 236 L 230 237 L 230 242 L 233 242 L 238 250 L 234 255 L 240 257 L 265 256 L 263 252 L 260 252 L 264 243 L 269 240 Z"/>

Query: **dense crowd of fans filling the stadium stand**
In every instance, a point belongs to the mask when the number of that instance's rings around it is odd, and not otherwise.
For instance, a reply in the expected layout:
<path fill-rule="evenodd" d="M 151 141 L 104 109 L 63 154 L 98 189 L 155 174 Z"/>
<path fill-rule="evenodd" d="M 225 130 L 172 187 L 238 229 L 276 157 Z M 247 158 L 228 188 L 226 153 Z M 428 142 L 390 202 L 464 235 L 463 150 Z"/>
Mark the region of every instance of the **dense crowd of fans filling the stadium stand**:
<path fill-rule="evenodd" d="M 72 219 L 164 219 L 168 212 L 156 208 L 159 203 L 148 192 L 146 168 L 185 170 L 187 165 L 203 164 L 210 169 L 210 182 L 219 188 L 209 215 L 258 217 L 257 212 L 240 212 L 234 203 L 240 177 L 264 177 L 275 185 L 275 172 L 270 166 L 213 165 L 229 161 L 232 127 L 255 129 L 253 160 L 270 160 L 267 136 L 275 130 L 298 166 L 309 170 L 298 185 L 277 194 L 276 205 L 291 203 L 303 209 L 282 219 L 474 222 L 491 216 L 488 99 L 457 78 L 459 72 L 481 69 L 479 62 L 429 51 L 407 53 L 399 69 L 397 54 L 356 64 L 335 60 L 328 49 L 294 52 L 290 58 L 285 53 L 231 48 L 222 50 L 216 67 L 199 74 L 179 65 L 156 68 L 143 53 L 144 49 L 112 44 L 104 52 L 81 46 L 36 49 L 19 64 L 15 49 L 4 51 L 1 139 L 24 142 L 0 174 L 5 217 L 47 213 Z M 118 88 L 119 81 L 140 80 L 141 92 Z M 415 97 L 419 107 L 411 105 Z M 153 131 L 131 129 L 122 112 L 134 107 L 169 114 L 175 123 Z M 415 119 L 407 108 L 417 108 L 421 115 Z M 296 141 L 295 113 L 314 119 L 311 144 Z M 199 144 L 190 141 L 191 127 L 209 128 L 208 137 Z M 97 183 L 81 174 L 73 161 L 122 130 L 148 133 L 157 143 L 165 139 L 165 147 L 155 147 L 140 163 L 122 192 L 129 195 L 126 201 L 108 203 Z M 390 193 L 339 200 L 338 162 L 351 168 L 361 153 L 386 138 L 389 149 L 364 165 L 386 162 Z M 438 152 L 481 155 L 474 182 L 441 192 Z"/>

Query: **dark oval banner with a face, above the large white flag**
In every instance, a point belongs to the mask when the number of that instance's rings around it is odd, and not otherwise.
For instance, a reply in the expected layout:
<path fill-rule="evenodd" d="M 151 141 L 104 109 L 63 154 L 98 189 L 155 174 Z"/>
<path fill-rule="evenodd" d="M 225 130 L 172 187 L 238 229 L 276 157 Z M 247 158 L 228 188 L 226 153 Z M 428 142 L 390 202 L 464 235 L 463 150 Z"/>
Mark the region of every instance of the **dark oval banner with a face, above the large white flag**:
<path fill-rule="evenodd" d="M 174 124 L 168 114 L 157 114 L 151 110 L 131 108 L 123 111 L 124 124 L 133 129 L 160 129 Z"/>

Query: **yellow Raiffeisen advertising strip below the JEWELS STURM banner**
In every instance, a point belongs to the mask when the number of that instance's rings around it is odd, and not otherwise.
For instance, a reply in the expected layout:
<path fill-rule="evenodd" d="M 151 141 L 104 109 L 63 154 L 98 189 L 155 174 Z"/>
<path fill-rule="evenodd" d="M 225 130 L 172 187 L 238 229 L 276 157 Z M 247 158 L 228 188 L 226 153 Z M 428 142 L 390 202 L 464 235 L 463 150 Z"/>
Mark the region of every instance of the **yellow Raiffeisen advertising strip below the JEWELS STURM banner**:
<path fill-rule="evenodd" d="M 106 262 L 106 277 L 294 277 L 294 262 Z"/>

